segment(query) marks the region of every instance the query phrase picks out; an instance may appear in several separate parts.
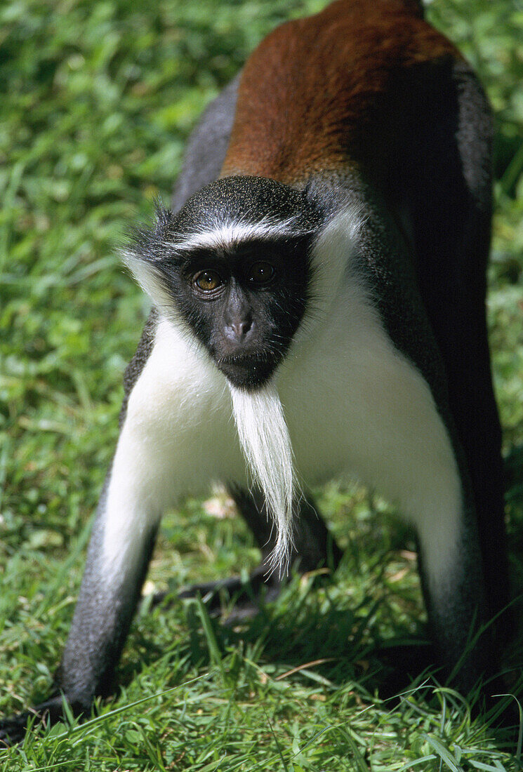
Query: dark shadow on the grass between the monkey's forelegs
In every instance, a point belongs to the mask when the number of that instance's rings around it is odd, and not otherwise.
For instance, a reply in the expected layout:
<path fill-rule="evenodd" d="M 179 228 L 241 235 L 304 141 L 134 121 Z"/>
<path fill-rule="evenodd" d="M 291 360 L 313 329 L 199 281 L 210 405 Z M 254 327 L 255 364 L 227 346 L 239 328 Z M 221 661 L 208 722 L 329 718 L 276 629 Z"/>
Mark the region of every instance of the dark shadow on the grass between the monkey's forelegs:
<path fill-rule="evenodd" d="M 327 679 L 336 686 L 355 683 L 362 692 L 377 692 L 382 699 L 390 699 L 412 686 L 429 669 L 437 678 L 433 648 L 422 625 L 419 634 L 413 635 L 412 625 L 408 628 L 397 624 L 391 638 L 380 630 L 383 624 L 379 610 L 387 602 L 385 596 L 366 596 L 350 609 L 341 594 L 339 599 L 331 597 L 329 588 L 335 588 L 335 584 L 333 580 L 318 581 L 318 577 L 296 577 L 275 601 L 267 602 L 263 594 L 256 598 L 256 604 L 235 605 L 234 598 L 222 598 L 221 613 L 216 609 L 209 613 L 199 598 L 183 601 L 187 638 L 181 648 L 188 665 L 212 664 L 216 659 L 213 647 L 220 656 L 241 649 L 251 652 L 251 659 L 259 662 L 260 667 L 270 665 L 276 675 L 314 663 L 311 669 L 319 679 Z M 321 593 L 316 592 L 319 586 Z M 181 603 L 175 594 L 168 595 L 161 608 L 151 613 L 175 613 L 175 608 L 170 607 Z M 133 638 L 134 648 L 141 652 L 142 667 L 154 666 L 165 655 L 161 645 L 149 640 L 148 635 L 135 631 Z M 180 654 L 173 652 L 173 656 Z M 121 665 L 118 680 L 130 682 L 137 666 L 136 660 Z"/>

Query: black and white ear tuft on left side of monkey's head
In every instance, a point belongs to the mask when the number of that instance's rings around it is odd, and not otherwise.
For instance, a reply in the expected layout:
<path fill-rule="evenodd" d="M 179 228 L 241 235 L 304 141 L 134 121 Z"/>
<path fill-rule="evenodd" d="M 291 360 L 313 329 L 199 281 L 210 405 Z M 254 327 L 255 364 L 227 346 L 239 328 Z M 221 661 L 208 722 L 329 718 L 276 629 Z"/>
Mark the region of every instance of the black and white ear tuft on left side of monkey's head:
<path fill-rule="evenodd" d="M 127 233 L 127 242 L 121 247 L 120 255 L 124 265 L 156 308 L 166 316 L 172 316 L 173 300 L 161 268 L 172 250 L 174 215 L 162 205 L 160 199 L 155 201 L 155 215 L 151 227 L 138 227 Z"/>

